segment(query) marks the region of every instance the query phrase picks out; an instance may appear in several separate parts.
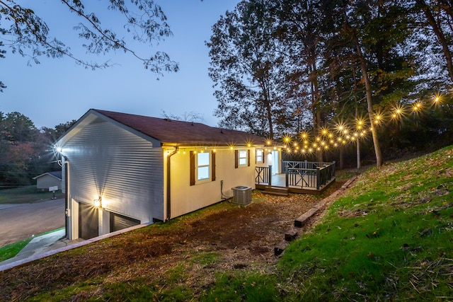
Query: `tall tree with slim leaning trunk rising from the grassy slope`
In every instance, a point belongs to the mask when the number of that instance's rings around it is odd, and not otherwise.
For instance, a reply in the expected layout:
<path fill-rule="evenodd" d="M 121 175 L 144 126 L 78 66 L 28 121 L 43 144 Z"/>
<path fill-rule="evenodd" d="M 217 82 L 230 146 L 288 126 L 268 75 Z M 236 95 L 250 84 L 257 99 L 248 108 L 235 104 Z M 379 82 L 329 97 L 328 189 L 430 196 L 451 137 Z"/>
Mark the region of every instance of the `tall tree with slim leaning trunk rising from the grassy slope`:
<path fill-rule="evenodd" d="M 361 72 L 379 167 L 382 165 L 380 111 L 394 106 L 410 93 L 406 83 L 413 75 L 413 58 L 402 51 L 411 33 L 408 13 L 398 1 L 333 1 L 332 4 L 331 20 L 335 20 L 336 32 L 331 43 L 354 50 L 348 59 L 352 65 L 358 64 Z"/>

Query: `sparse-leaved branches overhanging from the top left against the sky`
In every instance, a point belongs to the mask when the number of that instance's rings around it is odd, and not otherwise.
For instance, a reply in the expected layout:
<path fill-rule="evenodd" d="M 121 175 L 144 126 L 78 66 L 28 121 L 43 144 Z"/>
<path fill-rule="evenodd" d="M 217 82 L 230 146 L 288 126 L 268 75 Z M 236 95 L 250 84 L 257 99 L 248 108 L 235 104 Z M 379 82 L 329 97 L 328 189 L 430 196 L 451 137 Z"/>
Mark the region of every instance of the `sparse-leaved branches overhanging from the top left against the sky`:
<path fill-rule="evenodd" d="M 171 61 L 165 52 L 139 54 L 130 48 L 130 42 L 119 37 L 119 33 L 107 29 L 94 12 L 86 11 L 84 4 L 86 1 L 60 0 L 60 2 L 81 19 L 76 30 L 79 37 L 87 41 L 83 46 L 88 53 L 105 54 L 120 50 L 131 54 L 142 62 L 146 69 L 155 74 L 161 75 L 164 71 L 178 71 L 178 64 Z M 152 46 L 163 40 L 164 37 L 172 35 L 170 27 L 166 23 L 164 11 L 153 0 L 133 0 L 130 1 L 130 4 L 126 4 L 126 1 L 109 0 L 105 3 L 108 11 L 117 13 L 117 16 L 123 18 L 127 35 L 135 41 Z M 25 8 L 16 1 L 0 0 L 0 19 L 2 18 L 4 28 L 0 28 L 0 33 L 6 37 L 6 44 L 0 44 L 0 47 L 10 47 L 12 52 L 30 57 L 29 62 L 39 64 L 38 58 L 41 56 L 69 57 L 86 68 L 103 69 L 110 66 L 108 61 L 97 63 L 76 57 L 62 40 L 50 36 L 50 28 L 47 27 L 45 21 L 32 9 Z M 9 27 L 6 27 L 7 25 Z M 4 53 L 5 50 L 0 50 L 0 57 L 3 57 Z M 0 82 L 1 88 L 5 88 L 5 86 Z"/>

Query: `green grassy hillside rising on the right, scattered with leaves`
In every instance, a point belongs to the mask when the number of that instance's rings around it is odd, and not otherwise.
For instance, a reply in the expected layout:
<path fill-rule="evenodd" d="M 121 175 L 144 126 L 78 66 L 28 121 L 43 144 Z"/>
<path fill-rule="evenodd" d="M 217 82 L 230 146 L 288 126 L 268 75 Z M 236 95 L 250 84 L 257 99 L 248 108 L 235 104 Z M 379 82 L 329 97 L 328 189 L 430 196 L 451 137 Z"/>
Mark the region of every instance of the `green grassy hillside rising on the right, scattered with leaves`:
<path fill-rule="evenodd" d="M 453 149 L 374 168 L 278 262 L 306 301 L 453 300 Z"/>

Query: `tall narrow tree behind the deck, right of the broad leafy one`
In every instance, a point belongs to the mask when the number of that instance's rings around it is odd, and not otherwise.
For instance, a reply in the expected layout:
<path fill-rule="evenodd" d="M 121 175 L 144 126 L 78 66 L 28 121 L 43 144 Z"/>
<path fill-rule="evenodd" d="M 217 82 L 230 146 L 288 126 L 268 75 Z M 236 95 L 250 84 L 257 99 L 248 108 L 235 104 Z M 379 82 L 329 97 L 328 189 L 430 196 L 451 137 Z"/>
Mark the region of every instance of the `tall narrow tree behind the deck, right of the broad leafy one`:
<path fill-rule="evenodd" d="M 279 11 L 277 34 L 285 50 L 286 80 L 290 86 L 288 92 L 292 94 L 297 91 L 293 96 L 303 99 L 302 110 L 311 113 L 314 136 L 318 137 L 325 122 L 323 111 L 328 109 L 327 99 L 321 97 L 321 83 L 326 76 L 321 70 L 325 62 L 325 40 L 323 28 L 319 25 L 322 18 L 321 1 L 280 1 Z M 317 161 L 323 161 L 321 149 L 317 152 Z"/>

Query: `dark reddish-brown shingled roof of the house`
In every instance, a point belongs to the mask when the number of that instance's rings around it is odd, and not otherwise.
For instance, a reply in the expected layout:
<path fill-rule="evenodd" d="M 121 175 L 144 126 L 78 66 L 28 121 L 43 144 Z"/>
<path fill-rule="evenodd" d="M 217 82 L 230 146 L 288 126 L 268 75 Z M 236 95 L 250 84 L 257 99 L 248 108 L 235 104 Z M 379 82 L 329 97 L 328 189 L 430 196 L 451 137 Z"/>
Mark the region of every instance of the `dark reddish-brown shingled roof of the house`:
<path fill-rule="evenodd" d="M 265 145 L 265 139 L 242 131 L 210 127 L 198 122 L 130 115 L 127 113 L 105 110 L 94 111 L 125 124 L 138 132 L 161 141 L 164 145 L 177 146 L 229 146 L 229 145 Z"/>

